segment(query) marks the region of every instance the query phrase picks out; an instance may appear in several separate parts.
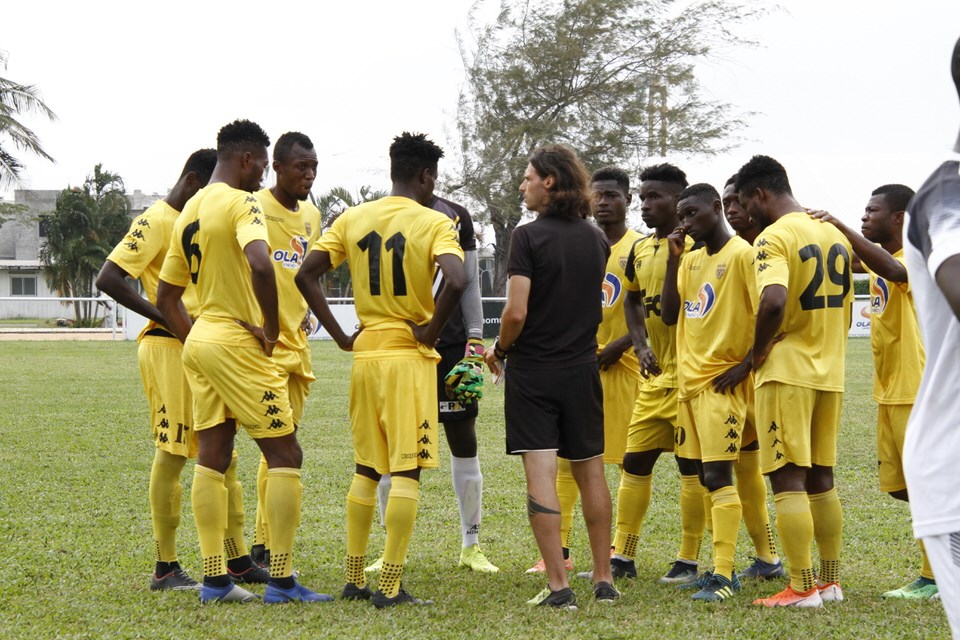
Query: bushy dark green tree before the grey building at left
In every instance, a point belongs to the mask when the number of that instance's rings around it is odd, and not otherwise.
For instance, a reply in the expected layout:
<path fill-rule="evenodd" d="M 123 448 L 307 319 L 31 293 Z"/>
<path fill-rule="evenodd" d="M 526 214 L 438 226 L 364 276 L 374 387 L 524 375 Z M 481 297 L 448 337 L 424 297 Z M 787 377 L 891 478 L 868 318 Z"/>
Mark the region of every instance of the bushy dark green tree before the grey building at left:
<path fill-rule="evenodd" d="M 93 296 L 97 272 L 130 225 L 124 191 L 123 179 L 98 164 L 82 187 L 68 187 L 57 196 L 56 208 L 44 218 L 46 241 L 40 248 L 44 278 L 57 295 Z M 73 304 L 78 325 L 98 322 L 99 304 Z"/>

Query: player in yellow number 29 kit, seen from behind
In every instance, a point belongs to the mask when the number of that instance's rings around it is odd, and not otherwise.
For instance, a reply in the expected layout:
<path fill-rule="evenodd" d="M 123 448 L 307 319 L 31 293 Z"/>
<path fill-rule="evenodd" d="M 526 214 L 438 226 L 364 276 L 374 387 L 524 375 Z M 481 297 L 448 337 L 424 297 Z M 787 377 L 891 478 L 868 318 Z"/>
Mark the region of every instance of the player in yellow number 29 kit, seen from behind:
<path fill-rule="evenodd" d="M 820 607 L 843 599 L 843 512 L 833 467 L 853 300 L 851 247 L 834 227 L 810 219 L 773 158 L 754 156 L 743 165 L 736 190 L 764 227 L 754 242 L 756 424 L 790 570 L 786 589 L 755 604 Z M 810 554 L 814 540 L 819 575 Z"/>

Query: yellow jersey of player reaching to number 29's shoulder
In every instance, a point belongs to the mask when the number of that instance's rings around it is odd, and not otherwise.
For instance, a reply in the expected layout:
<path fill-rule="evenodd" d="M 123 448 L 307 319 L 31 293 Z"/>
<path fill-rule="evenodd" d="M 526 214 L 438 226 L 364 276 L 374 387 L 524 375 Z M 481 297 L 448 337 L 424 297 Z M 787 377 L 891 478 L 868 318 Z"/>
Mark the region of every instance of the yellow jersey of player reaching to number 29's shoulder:
<path fill-rule="evenodd" d="M 903 249 L 893 254 L 906 267 Z M 891 282 L 870 271 L 870 346 L 873 399 L 913 404 L 923 374 L 924 350 L 909 282 Z"/>

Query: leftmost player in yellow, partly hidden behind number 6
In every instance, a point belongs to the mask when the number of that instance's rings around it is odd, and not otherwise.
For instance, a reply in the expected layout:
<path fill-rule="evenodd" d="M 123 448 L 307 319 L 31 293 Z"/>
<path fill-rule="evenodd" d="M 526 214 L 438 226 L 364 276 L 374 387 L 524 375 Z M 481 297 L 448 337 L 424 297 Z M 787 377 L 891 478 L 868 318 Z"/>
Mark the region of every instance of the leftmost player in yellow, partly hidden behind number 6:
<path fill-rule="evenodd" d="M 217 163 L 213 149 L 195 151 L 187 159 L 180 178 L 163 200 L 158 200 L 134 219 L 126 237 L 107 256 L 97 288 L 131 311 L 147 318 L 137 337 L 137 360 L 144 391 L 150 405 L 152 436 L 156 451 L 150 470 L 150 516 L 156 548 L 156 568 L 150 581 L 154 591 L 163 589 L 199 589 L 200 585 L 180 567 L 177 555 L 177 528 L 180 525 L 180 473 L 187 458 L 197 455 L 193 431 L 190 389 L 183 377 L 180 341 L 166 328 L 157 310 L 157 281 L 160 267 L 170 246 L 173 223 L 193 195 L 210 180 Z M 143 298 L 127 278 L 140 279 Z M 185 303 L 195 313 L 196 296 Z M 230 489 L 239 489 L 234 482 Z M 239 514 L 242 540 L 243 512 Z M 228 518 L 235 522 L 236 517 Z M 230 534 L 227 534 L 228 536 Z"/>

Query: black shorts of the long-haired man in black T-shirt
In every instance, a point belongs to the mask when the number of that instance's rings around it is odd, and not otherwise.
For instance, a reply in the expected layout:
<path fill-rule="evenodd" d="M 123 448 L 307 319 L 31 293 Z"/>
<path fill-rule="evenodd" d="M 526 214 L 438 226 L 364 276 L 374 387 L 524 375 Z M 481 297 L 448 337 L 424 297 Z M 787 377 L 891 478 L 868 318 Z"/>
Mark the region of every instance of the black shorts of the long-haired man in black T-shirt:
<path fill-rule="evenodd" d="M 556 451 L 568 460 L 603 455 L 603 390 L 596 362 L 561 369 L 507 364 L 507 453 Z"/>

